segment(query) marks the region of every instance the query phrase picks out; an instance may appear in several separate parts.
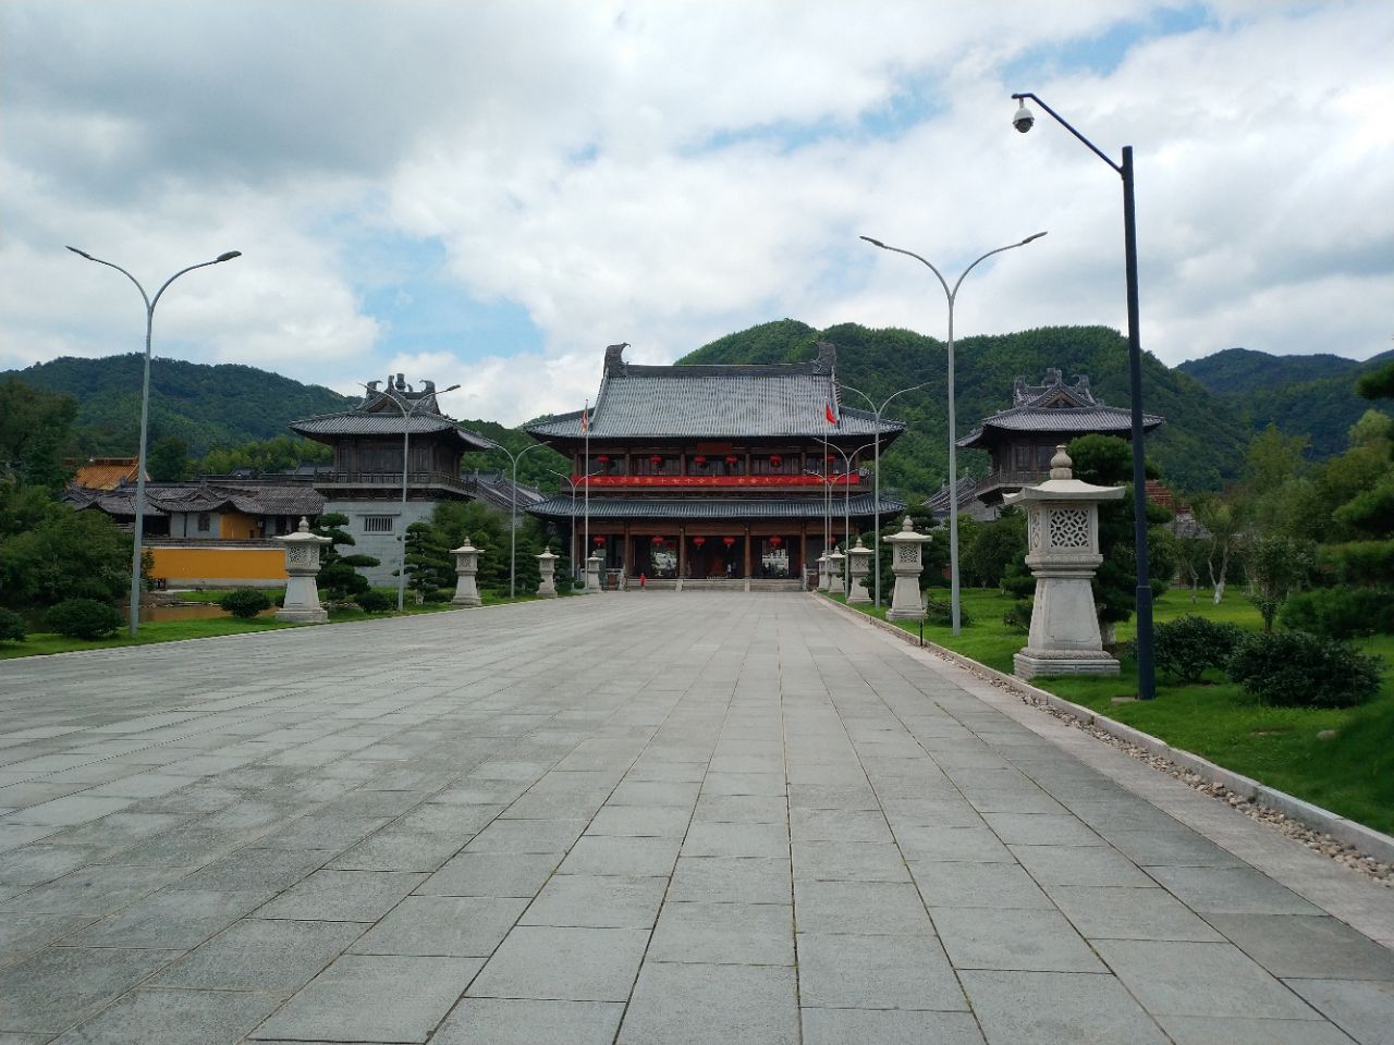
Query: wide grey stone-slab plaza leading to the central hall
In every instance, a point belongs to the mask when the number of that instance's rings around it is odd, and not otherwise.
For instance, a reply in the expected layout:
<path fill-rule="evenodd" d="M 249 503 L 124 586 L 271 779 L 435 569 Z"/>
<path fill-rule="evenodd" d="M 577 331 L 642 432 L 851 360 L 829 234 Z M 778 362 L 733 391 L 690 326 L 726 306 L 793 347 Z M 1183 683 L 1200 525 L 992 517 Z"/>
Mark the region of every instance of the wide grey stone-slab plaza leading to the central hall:
<path fill-rule="evenodd" d="M 0 1045 L 1394 1041 L 1394 892 L 811 595 L 11 660 L 0 706 Z"/>

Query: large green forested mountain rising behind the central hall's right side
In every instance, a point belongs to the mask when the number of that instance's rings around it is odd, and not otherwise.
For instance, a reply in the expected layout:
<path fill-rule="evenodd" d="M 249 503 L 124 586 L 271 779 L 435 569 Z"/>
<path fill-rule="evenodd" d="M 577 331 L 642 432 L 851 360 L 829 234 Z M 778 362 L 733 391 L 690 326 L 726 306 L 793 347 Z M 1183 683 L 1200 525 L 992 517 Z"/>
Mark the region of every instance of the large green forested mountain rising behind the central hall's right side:
<path fill-rule="evenodd" d="M 729 334 L 686 355 L 684 364 L 792 362 L 813 358 L 818 341 L 838 348 L 838 379 L 867 393 L 877 405 L 891 393 L 927 382 L 891 404 L 888 415 L 909 421 L 910 431 L 885 457 L 885 477 L 907 495 L 938 489 L 948 475 L 948 353 L 944 341 L 913 330 L 870 330 L 843 323 L 814 330 L 793 319 Z M 965 337 L 955 341 L 958 435 L 979 419 L 1011 405 L 1012 382 L 1020 375 L 1040 383 L 1047 368 L 1069 379 L 1087 373 L 1094 396 L 1112 407 L 1128 407 L 1128 341 L 1101 326 L 1041 327 L 1013 334 Z M 850 407 L 866 407 L 846 396 Z M 810 404 L 810 410 L 821 410 Z M 1248 443 L 1248 431 L 1197 380 L 1143 358 L 1143 408 L 1167 418 L 1147 439 L 1147 456 L 1181 490 L 1217 489 L 1232 478 Z M 962 468 L 987 470 L 981 451 L 959 454 Z"/>

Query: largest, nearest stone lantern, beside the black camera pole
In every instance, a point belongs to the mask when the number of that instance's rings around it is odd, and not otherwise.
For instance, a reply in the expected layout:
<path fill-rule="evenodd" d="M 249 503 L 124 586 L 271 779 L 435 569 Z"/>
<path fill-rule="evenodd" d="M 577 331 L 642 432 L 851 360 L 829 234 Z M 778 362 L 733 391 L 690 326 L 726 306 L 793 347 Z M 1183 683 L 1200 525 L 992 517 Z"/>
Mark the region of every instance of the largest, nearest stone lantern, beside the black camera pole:
<path fill-rule="evenodd" d="M 1026 566 L 1036 602 L 1026 648 L 1012 659 L 1020 679 L 1037 674 L 1118 674 L 1104 652 L 1090 581 L 1098 553 L 1098 504 L 1124 496 L 1121 486 L 1073 478 L 1065 447 L 1055 449 L 1050 478 L 1005 497 L 1026 509 Z"/>

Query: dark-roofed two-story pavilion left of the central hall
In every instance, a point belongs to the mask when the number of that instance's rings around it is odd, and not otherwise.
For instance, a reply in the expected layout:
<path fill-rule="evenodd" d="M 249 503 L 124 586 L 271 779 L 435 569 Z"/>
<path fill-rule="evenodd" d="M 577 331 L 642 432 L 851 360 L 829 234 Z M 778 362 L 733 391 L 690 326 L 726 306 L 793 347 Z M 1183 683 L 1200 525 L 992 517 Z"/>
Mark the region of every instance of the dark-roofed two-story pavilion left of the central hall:
<path fill-rule="evenodd" d="M 335 449 L 333 468 L 314 478 L 323 510 L 347 516 L 354 552 L 381 560 L 362 574 L 372 584 L 392 584 L 407 527 L 429 518 L 439 502 L 470 500 L 474 483 L 460 475 L 460 456 L 493 443 L 441 412 L 434 382 L 418 392 L 399 373 L 385 389 L 378 385 L 369 382 L 353 410 L 293 421 L 290 428 Z"/>

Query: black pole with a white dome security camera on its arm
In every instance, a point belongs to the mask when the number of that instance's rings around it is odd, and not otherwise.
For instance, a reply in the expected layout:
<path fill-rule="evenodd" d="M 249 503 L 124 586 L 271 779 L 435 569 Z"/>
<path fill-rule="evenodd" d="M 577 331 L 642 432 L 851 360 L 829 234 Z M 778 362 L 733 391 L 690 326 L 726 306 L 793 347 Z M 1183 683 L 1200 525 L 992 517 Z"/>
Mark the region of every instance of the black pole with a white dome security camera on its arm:
<path fill-rule="evenodd" d="M 1138 546 L 1138 697 L 1150 701 L 1157 695 L 1157 677 L 1151 651 L 1151 580 L 1147 564 L 1147 468 L 1142 425 L 1142 332 L 1138 305 L 1138 216 L 1133 203 L 1132 146 L 1122 149 L 1122 162 L 1114 163 L 1089 138 L 1082 135 L 1059 113 L 1041 102 L 1030 91 L 1012 95 L 1018 102 L 1012 127 L 1026 134 L 1036 124 L 1036 117 L 1026 107 L 1026 99 L 1050 113 L 1055 123 L 1069 131 L 1098 159 L 1112 167 L 1124 180 L 1124 276 L 1128 284 L 1128 390 L 1132 407 L 1132 451 L 1133 451 L 1133 542 Z"/>

